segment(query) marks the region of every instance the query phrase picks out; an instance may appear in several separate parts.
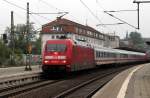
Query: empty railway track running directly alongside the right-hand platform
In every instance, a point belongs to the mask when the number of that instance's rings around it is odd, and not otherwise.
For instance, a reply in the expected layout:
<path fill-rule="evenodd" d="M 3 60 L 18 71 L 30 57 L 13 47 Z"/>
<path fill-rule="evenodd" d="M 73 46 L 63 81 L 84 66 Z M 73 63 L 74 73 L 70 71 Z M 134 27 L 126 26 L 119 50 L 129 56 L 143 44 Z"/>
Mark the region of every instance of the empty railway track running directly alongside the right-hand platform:
<path fill-rule="evenodd" d="M 91 80 L 85 81 L 80 85 L 60 93 L 54 98 L 91 98 L 91 96 L 96 93 L 96 91 L 102 88 L 120 71 L 121 70 L 112 71 L 92 78 Z"/>

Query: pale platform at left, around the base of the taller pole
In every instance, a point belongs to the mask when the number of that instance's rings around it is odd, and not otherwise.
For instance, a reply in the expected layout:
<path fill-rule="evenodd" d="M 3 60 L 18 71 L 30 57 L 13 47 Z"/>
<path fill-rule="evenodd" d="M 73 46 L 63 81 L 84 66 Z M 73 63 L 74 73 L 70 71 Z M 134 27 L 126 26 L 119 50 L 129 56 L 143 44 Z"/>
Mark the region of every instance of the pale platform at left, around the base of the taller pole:
<path fill-rule="evenodd" d="M 25 71 L 25 66 L 0 68 L 0 78 L 42 72 L 40 65 L 33 65 L 31 68 L 31 71 Z"/>

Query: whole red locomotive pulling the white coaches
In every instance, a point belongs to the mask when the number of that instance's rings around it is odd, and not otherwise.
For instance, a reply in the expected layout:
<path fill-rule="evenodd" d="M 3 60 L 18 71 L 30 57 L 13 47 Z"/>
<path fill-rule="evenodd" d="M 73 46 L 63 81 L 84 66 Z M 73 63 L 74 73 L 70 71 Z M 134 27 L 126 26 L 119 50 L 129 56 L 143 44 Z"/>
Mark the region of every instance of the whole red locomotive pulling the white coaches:
<path fill-rule="evenodd" d="M 44 72 L 70 72 L 94 66 L 94 50 L 92 48 L 75 45 L 70 39 L 46 42 L 42 60 Z"/>

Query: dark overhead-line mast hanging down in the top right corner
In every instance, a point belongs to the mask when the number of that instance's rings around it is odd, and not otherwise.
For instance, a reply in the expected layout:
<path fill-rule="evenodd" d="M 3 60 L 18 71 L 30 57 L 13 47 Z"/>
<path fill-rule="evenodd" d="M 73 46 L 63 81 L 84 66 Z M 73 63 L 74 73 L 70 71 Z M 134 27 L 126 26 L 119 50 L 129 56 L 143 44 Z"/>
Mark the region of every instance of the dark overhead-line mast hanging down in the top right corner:
<path fill-rule="evenodd" d="M 150 3 L 150 1 L 133 1 L 133 3 L 137 3 L 137 21 L 138 21 L 138 28 L 140 29 L 140 3 Z"/>

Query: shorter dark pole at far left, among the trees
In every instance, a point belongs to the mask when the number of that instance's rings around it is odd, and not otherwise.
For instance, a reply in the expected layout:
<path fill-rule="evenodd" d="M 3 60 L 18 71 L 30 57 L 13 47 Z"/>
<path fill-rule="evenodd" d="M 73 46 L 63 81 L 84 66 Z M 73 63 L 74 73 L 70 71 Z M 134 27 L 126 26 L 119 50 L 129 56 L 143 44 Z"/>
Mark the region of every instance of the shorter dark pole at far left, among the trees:
<path fill-rule="evenodd" d="M 11 53 L 11 64 L 14 64 L 14 16 L 13 16 L 13 11 L 11 11 L 11 48 L 12 48 L 12 53 Z"/>

